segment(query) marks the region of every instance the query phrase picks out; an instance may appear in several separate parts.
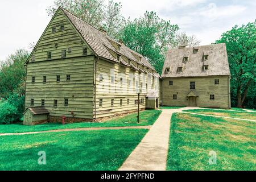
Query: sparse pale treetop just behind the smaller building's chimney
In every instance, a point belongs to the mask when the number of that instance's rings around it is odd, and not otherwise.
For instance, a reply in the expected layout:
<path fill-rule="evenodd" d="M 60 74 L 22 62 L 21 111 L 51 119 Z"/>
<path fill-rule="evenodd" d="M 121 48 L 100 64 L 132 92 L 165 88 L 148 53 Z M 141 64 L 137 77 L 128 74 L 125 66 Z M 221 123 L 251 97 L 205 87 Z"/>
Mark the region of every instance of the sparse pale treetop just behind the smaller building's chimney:
<path fill-rule="evenodd" d="M 177 47 L 179 45 L 195 47 L 195 46 L 199 46 L 200 42 L 201 41 L 198 40 L 195 35 L 188 36 L 185 32 L 181 32 L 181 33 L 177 34 L 177 36 L 176 36 L 175 47 Z"/>

